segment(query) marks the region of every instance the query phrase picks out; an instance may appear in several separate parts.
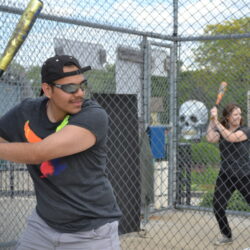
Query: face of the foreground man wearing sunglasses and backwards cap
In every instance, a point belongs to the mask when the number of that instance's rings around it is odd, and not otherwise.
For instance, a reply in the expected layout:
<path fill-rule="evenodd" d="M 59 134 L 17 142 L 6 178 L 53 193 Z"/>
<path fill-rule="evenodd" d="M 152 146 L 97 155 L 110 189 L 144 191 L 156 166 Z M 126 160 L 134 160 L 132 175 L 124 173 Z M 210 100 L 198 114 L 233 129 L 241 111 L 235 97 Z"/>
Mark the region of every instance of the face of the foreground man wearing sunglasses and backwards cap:
<path fill-rule="evenodd" d="M 63 68 L 64 72 L 76 71 L 78 68 L 76 66 L 65 66 Z M 56 80 L 54 83 L 57 85 L 66 85 L 66 84 L 77 84 L 80 85 L 84 80 L 83 75 L 73 75 L 61 78 Z M 63 89 L 59 88 L 60 86 L 51 86 L 51 96 L 50 101 L 54 104 L 54 107 L 57 111 L 68 114 L 78 113 L 83 104 L 83 99 L 85 92 L 79 88 L 74 93 L 67 93 Z"/>

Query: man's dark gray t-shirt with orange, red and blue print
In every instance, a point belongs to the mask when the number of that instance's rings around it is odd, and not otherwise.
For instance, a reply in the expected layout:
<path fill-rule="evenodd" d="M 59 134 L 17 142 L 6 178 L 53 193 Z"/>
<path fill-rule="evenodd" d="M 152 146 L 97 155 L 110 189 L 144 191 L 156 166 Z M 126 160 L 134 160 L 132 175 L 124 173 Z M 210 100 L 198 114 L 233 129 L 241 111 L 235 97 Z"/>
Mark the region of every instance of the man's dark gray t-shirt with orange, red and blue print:
<path fill-rule="evenodd" d="M 47 98 L 26 99 L 0 119 L 0 136 L 10 142 L 36 142 L 55 133 L 46 113 Z M 108 116 L 92 100 L 71 115 L 69 125 L 90 130 L 96 144 L 86 151 L 28 165 L 37 213 L 60 232 L 87 231 L 118 220 L 121 211 L 106 175 Z"/>

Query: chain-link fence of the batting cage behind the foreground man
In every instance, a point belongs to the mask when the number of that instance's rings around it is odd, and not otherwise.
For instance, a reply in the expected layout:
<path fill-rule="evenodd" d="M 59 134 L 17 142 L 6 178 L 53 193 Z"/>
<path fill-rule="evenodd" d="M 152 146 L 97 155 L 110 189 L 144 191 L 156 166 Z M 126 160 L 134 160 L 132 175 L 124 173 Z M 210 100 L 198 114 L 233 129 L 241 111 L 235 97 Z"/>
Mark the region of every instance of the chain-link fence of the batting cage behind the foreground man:
<path fill-rule="evenodd" d="M 108 174 L 123 212 L 122 249 L 214 249 L 212 197 L 220 167 L 205 139 L 219 83 L 250 125 L 249 0 L 44 0 L 25 43 L 0 79 L 0 110 L 40 92 L 55 54 L 91 65 L 88 95 L 110 116 Z M 0 51 L 28 1 L 0 0 Z M 219 108 L 221 112 L 221 107 Z M 13 249 L 35 206 L 24 165 L 0 164 L 0 249 Z M 250 207 L 235 192 L 228 220 L 250 248 Z"/>

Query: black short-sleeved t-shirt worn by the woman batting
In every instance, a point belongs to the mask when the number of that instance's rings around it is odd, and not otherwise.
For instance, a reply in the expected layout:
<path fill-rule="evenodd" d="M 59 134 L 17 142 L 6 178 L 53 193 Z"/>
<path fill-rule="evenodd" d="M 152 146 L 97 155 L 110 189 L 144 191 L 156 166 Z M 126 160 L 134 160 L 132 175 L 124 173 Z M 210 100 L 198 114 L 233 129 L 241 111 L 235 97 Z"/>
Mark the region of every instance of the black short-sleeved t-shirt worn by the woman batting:
<path fill-rule="evenodd" d="M 239 127 L 237 130 L 242 130 L 247 140 L 229 142 L 220 136 L 221 171 L 242 177 L 250 175 L 250 128 Z"/>

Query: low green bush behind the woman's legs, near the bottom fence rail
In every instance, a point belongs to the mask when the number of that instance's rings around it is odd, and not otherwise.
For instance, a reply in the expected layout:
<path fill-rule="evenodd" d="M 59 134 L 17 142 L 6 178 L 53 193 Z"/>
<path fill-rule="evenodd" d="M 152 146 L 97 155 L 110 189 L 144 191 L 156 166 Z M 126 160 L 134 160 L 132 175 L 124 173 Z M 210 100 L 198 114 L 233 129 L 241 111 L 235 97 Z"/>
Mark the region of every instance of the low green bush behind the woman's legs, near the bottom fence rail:
<path fill-rule="evenodd" d="M 213 191 L 208 191 L 202 197 L 202 201 L 200 202 L 200 206 L 202 207 L 212 207 L 213 206 Z M 250 212 L 250 206 L 245 201 L 244 197 L 241 195 L 239 191 L 235 191 L 228 202 L 227 206 L 228 210 L 236 210 L 236 211 L 244 211 Z"/>

